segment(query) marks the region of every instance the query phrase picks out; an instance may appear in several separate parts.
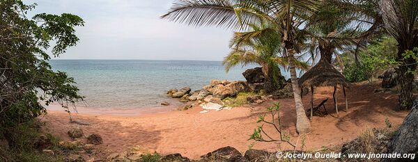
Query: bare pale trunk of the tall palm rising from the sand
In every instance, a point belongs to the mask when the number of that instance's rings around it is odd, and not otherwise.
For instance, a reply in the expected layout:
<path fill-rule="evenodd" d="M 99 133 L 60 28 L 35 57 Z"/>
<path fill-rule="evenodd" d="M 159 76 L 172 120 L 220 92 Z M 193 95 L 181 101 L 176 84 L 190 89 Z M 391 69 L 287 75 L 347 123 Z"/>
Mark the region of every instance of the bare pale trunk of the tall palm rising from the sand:
<path fill-rule="evenodd" d="M 295 108 L 296 108 L 296 131 L 297 133 L 304 134 L 311 132 L 311 123 L 307 118 L 306 112 L 303 107 L 302 97 L 300 97 L 299 83 L 297 83 L 297 75 L 295 68 L 295 50 L 286 49 L 288 62 L 291 72 L 291 81 L 293 88 L 293 97 L 295 97 Z"/>

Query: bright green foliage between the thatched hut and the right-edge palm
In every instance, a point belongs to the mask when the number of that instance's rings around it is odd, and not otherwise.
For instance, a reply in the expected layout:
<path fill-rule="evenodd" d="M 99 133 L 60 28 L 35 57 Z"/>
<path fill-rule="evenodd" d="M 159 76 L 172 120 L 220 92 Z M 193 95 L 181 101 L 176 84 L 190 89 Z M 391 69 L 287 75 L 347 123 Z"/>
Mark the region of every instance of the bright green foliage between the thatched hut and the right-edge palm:
<path fill-rule="evenodd" d="M 378 43 L 371 44 L 359 52 L 359 63 L 353 58 L 343 57 L 346 67 L 343 74 L 351 82 L 372 81 L 395 62 L 397 43 L 394 38 L 385 37 L 376 40 Z"/>

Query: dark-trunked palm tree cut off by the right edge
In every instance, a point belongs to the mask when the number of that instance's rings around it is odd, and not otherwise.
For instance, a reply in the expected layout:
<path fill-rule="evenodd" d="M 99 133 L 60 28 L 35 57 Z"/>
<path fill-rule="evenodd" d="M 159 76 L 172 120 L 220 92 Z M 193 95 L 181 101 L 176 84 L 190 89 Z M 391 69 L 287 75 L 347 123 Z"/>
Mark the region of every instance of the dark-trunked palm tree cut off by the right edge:
<path fill-rule="evenodd" d="M 401 85 L 399 108 L 411 108 L 413 103 L 413 81 L 417 69 L 414 57 L 404 57 L 405 51 L 418 47 L 418 0 L 381 0 L 379 8 L 382 13 L 385 29 L 398 42 L 397 60 L 399 65 L 398 81 Z"/>

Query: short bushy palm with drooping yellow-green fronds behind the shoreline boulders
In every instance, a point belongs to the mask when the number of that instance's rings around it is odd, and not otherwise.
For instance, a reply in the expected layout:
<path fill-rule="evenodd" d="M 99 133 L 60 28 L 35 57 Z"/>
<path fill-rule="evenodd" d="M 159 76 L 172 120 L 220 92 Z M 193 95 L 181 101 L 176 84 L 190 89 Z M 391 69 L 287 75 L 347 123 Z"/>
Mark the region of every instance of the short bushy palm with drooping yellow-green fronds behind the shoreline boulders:
<path fill-rule="evenodd" d="M 280 74 L 279 65 L 286 66 L 288 61 L 281 54 L 281 37 L 272 24 L 249 25 L 251 31 L 235 32 L 231 39 L 232 51 L 224 58 L 225 70 L 237 65 L 256 63 L 263 70 L 264 90 L 273 92 L 283 88 L 284 77 Z M 297 61 L 297 67 L 306 70 L 308 65 Z"/>

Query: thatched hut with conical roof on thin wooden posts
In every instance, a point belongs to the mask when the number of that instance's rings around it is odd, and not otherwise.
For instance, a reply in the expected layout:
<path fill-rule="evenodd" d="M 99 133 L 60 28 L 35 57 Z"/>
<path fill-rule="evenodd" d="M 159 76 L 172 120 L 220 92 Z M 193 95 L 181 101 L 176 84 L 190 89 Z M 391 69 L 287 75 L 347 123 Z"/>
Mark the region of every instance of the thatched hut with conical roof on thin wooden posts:
<path fill-rule="evenodd" d="M 350 82 L 343 76 L 343 74 L 328 63 L 327 60 L 321 58 L 314 67 L 303 74 L 303 76 L 301 76 L 297 81 L 300 88 L 311 88 L 311 121 L 313 116 L 312 113 L 314 111 L 314 87 L 334 87 L 334 94 L 332 96 L 334 98 L 334 107 L 338 117 L 339 113 L 335 93 L 337 86 L 341 86 L 346 99 L 346 111 L 348 111 L 346 88 L 350 88 Z"/>

